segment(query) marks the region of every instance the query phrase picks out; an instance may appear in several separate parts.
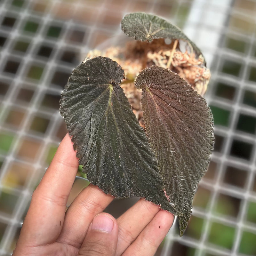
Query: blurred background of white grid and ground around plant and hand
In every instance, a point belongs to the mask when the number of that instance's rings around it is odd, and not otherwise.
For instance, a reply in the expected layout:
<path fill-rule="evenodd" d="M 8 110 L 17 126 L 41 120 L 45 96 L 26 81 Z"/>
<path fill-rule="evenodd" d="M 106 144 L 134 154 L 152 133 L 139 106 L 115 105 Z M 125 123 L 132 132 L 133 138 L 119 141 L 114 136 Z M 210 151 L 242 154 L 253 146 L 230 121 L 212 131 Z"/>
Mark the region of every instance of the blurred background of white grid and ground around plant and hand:
<path fill-rule="evenodd" d="M 212 73 L 209 170 L 184 236 L 174 224 L 156 255 L 256 255 L 255 0 L 0 0 L 1 256 L 11 255 L 31 194 L 67 132 L 58 109 L 71 71 L 122 35 L 122 17 L 136 11 L 182 28 Z M 73 194 L 87 184 L 77 178 Z"/>

